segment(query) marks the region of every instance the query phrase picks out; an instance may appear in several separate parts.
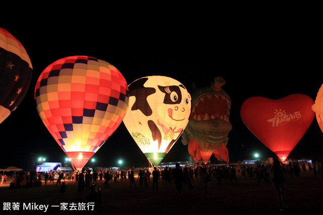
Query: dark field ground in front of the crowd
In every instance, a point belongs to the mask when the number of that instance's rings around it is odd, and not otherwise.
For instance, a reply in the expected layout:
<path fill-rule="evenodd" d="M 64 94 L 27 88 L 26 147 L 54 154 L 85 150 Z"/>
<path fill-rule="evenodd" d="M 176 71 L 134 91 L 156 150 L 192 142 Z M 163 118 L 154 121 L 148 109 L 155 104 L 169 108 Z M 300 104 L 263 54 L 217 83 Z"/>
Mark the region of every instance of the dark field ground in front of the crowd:
<path fill-rule="evenodd" d="M 137 175 L 136 175 L 137 176 Z M 204 190 L 199 181 L 194 180 L 194 190 L 190 197 L 181 200 L 175 196 L 175 185 L 166 189 L 162 180 L 159 180 L 159 191 L 152 191 L 152 179 L 149 188 L 139 186 L 136 180 L 136 189 L 130 189 L 130 182 L 110 181 L 111 188 L 99 185 L 101 202 L 91 210 L 85 206 L 78 208 L 79 202 L 85 205 L 88 200 L 77 200 L 77 186 L 75 181 L 68 182 L 66 194 L 59 193 L 59 187 L 53 184 L 35 188 L 10 189 L 7 185 L 0 185 L 0 214 L 323 214 L 323 180 L 314 177 L 313 172 L 302 172 L 301 179 L 287 178 L 286 200 L 288 208 L 281 212 L 272 182 L 260 183 L 256 178 L 244 179 L 237 174 L 237 186 L 229 183 L 218 184 L 210 182 L 209 191 L 212 198 L 204 198 Z M 270 180 L 272 176 L 270 176 Z M 19 210 L 4 210 L 4 203 L 18 202 Z M 47 211 L 24 209 L 23 204 L 36 203 L 48 205 Z M 60 208 L 66 203 L 67 210 Z M 73 205 L 76 210 L 72 210 Z M 55 207 L 55 206 L 59 207 Z M 91 204 L 92 205 L 92 204 Z"/>

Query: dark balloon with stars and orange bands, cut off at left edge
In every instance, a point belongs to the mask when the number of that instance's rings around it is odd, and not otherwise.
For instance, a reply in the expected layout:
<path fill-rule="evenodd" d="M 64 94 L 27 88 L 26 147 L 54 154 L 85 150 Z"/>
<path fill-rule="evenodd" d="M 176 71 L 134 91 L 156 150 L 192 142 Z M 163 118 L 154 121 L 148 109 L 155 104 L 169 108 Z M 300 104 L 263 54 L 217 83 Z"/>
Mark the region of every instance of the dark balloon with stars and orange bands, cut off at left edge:
<path fill-rule="evenodd" d="M 0 28 L 0 123 L 24 99 L 32 77 L 32 65 L 23 45 Z"/>

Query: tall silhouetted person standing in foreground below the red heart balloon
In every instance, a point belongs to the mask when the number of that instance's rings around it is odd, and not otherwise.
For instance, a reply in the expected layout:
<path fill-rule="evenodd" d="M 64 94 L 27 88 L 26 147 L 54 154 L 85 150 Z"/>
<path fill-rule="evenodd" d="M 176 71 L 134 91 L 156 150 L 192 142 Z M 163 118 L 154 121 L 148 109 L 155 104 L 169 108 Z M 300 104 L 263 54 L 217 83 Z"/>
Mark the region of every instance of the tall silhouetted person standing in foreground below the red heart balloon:
<path fill-rule="evenodd" d="M 286 178 L 281 167 L 281 162 L 278 159 L 275 159 L 273 166 L 268 170 L 268 172 L 273 173 L 273 185 L 275 187 L 278 202 L 281 207 L 280 210 L 283 211 L 284 208 L 287 208 L 285 203 Z"/>

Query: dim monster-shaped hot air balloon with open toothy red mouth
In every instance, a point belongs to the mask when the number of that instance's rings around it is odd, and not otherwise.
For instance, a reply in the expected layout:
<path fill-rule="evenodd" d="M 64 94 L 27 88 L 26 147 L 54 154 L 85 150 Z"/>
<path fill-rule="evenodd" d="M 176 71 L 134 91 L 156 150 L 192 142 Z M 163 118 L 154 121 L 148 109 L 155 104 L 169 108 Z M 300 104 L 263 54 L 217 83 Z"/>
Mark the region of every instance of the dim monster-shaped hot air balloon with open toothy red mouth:
<path fill-rule="evenodd" d="M 192 112 L 182 143 L 195 161 L 207 163 L 211 155 L 229 162 L 226 145 L 232 129 L 229 120 L 231 100 L 222 89 L 225 80 L 216 77 L 212 85 L 196 90 L 192 96 Z M 192 159 L 193 161 L 193 159 Z"/>

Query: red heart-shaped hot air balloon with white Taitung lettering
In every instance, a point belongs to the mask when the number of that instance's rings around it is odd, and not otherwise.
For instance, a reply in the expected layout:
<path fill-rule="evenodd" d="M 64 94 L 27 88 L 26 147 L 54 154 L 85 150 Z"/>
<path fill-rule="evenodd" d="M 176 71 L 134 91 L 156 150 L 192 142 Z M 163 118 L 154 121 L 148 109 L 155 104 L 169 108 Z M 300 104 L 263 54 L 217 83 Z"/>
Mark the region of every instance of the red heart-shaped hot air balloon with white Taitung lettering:
<path fill-rule="evenodd" d="M 244 101 L 240 113 L 247 128 L 285 161 L 313 121 L 313 103 L 303 94 L 278 100 L 251 97 Z"/>

